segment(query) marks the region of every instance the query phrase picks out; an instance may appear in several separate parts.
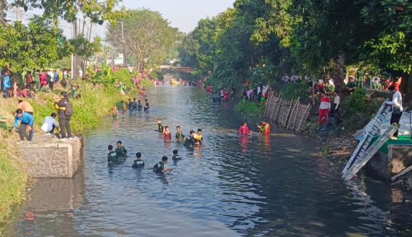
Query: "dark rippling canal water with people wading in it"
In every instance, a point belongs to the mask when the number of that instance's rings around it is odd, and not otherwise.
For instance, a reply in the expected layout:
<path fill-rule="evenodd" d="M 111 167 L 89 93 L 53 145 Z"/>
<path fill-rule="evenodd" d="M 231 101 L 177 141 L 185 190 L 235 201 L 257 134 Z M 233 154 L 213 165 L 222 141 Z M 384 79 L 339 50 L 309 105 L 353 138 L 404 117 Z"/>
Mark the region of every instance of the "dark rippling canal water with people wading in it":
<path fill-rule="evenodd" d="M 38 180 L 7 236 L 398 236 L 411 234 L 412 197 L 359 175 L 340 177 L 343 162 L 321 158 L 319 145 L 273 127 L 271 136 L 236 136 L 243 119 L 197 88 L 148 90 L 150 113 L 124 112 L 85 134 L 84 168 L 74 179 Z M 202 128 L 194 150 L 163 142 L 156 118 L 172 128 Z M 106 164 L 107 145 L 122 140 L 143 153 Z M 183 160 L 153 173 L 161 156 Z"/>

